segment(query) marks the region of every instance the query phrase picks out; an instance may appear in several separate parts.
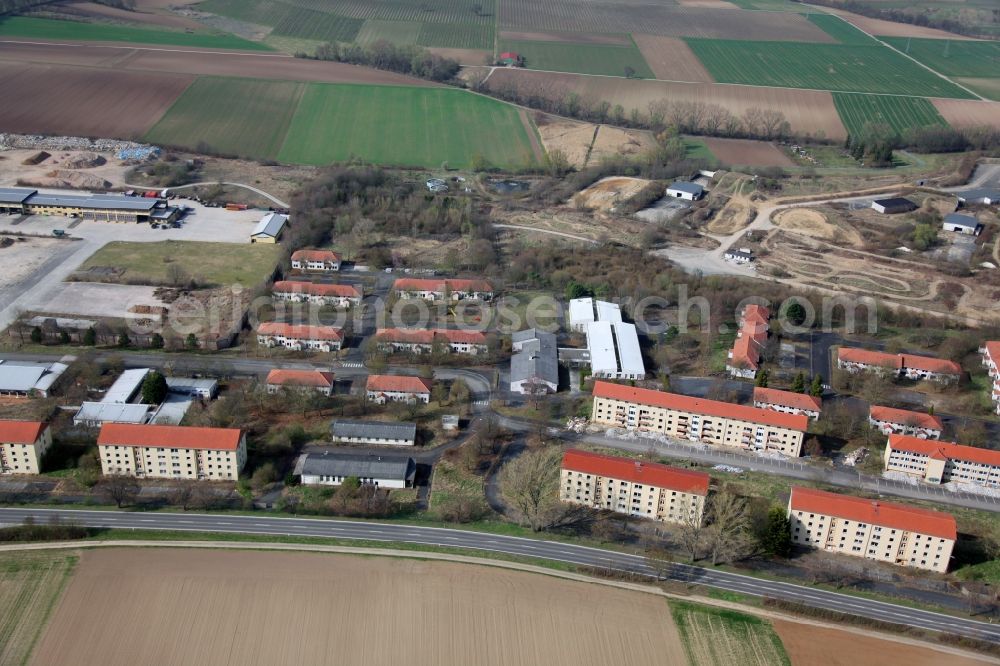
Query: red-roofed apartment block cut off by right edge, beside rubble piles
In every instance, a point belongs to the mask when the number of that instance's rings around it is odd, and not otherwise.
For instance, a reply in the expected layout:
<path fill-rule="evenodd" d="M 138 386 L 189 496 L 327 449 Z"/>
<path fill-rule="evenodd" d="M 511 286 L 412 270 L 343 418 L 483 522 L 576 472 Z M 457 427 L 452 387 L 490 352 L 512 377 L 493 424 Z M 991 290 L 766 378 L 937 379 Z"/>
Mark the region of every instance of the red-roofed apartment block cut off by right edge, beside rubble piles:
<path fill-rule="evenodd" d="M 1000 486 L 1000 451 L 992 449 L 889 435 L 882 461 L 887 472 L 903 472 L 927 483 Z"/>

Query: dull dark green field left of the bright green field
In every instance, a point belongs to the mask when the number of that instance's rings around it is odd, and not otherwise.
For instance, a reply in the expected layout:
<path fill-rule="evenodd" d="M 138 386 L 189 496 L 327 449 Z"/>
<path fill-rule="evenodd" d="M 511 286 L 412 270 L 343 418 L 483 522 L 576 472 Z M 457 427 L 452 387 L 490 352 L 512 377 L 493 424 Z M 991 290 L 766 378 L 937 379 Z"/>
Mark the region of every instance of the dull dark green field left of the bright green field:
<path fill-rule="evenodd" d="M 273 159 L 305 84 L 206 76 L 197 79 L 145 139 L 223 155 Z"/>

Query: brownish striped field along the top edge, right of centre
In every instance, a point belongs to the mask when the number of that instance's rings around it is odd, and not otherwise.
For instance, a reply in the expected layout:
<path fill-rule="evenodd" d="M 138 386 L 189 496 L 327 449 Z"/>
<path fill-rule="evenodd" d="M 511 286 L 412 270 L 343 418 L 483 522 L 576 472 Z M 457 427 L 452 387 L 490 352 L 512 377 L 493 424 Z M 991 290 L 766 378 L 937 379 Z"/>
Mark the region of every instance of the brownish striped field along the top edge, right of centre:
<path fill-rule="evenodd" d="M 670 37 L 835 42 L 800 14 L 680 7 L 635 1 L 504 0 L 500 5 L 500 28 L 535 32 L 643 32 Z"/>

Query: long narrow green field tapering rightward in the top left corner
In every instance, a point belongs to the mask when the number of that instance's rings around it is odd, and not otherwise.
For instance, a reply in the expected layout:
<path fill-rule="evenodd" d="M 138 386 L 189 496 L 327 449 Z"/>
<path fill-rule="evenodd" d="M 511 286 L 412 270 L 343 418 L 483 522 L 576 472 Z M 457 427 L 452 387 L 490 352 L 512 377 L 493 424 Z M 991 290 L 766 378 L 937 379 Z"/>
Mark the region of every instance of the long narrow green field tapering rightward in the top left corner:
<path fill-rule="evenodd" d="M 0 37 L 27 37 L 30 39 L 87 42 L 130 42 L 135 44 L 162 44 L 206 49 L 239 49 L 243 51 L 272 50 L 266 44 L 251 42 L 235 35 L 222 33 L 151 30 L 125 25 L 111 25 L 108 23 L 59 21 L 27 16 L 11 16 L 0 19 Z"/>

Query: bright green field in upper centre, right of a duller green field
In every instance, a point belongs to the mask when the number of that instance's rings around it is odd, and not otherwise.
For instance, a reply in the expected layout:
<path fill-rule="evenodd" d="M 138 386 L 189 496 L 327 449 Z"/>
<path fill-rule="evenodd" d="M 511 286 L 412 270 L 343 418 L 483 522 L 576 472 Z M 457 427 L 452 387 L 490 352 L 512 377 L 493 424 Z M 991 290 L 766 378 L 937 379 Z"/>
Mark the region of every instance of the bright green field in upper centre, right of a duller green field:
<path fill-rule="evenodd" d="M 537 162 L 518 109 L 452 88 L 310 84 L 278 159 L 500 167 Z"/>

